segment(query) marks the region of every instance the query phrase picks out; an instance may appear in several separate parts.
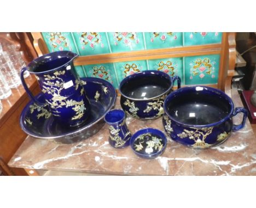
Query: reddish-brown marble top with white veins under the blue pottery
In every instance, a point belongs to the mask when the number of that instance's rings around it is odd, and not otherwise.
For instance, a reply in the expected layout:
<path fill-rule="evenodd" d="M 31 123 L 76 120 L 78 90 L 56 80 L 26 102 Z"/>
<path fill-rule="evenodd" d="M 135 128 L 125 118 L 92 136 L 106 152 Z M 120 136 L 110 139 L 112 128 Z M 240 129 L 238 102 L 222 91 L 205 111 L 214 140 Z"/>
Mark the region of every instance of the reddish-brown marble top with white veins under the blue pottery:
<path fill-rule="evenodd" d="M 231 90 L 236 107 L 240 97 Z M 119 97 L 115 108 L 121 108 Z M 242 115 L 234 118 L 240 123 Z M 141 121 L 128 117 L 132 133 L 146 127 L 164 132 L 160 119 Z M 28 136 L 9 161 L 10 167 L 75 171 L 113 175 L 256 175 L 256 139 L 247 119 L 246 126 L 223 144 L 206 150 L 190 149 L 168 138 L 164 154 L 154 160 L 137 157 L 130 147 L 114 149 L 108 143 L 108 126 L 89 139 L 73 144 Z"/>

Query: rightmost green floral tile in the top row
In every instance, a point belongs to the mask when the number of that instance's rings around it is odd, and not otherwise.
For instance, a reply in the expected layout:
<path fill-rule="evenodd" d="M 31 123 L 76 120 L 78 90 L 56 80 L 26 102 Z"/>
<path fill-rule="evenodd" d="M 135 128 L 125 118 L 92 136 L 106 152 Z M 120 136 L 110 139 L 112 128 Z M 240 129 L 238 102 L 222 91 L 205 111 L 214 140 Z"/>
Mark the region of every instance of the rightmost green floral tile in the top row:
<path fill-rule="evenodd" d="M 204 45 L 204 44 L 218 44 L 222 42 L 222 33 L 214 32 L 190 32 L 184 33 L 184 45 L 192 46 L 192 45 Z"/>

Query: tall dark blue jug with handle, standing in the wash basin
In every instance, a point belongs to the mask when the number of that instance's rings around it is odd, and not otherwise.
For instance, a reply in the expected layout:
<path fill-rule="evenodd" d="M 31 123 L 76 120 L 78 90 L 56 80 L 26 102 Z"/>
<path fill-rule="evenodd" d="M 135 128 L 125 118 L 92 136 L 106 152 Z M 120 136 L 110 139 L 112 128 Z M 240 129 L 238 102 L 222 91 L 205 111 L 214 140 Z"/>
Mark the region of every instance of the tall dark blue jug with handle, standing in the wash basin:
<path fill-rule="evenodd" d="M 57 51 L 34 59 L 21 70 L 21 81 L 27 94 L 37 105 L 48 105 L 51 114 L 61 125 L 78 126 L 90 115 L 90 102 L 86 97 L 73 60 L 78 57 L 71 51 Z M 36 75 L 44 100 L 37 100 L 24 80 L 26 69 Z"/>

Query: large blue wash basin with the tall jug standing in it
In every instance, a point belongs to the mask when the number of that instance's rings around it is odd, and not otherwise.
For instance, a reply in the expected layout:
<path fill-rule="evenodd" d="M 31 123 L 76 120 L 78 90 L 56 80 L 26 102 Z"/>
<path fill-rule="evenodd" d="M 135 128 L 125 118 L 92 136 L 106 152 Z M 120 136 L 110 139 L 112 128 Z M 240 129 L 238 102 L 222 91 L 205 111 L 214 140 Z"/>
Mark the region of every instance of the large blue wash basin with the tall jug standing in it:
<path fill-rule="evenodd" d="M 48 106 L 39 106 L 33 100 L 28 102 L 20 117 L 20 126 L 28 135 L 42 139 L 55 139 L 61 143 L 78 142 L 91 137 L 104 125 L 104 115 L 114 107 L 117 94 L 112 84 L 101 78 L 81 78 L 91 103 L 89 118 L 78 127 L 60 125 Z M 36 99 L 44 102 L 43 93 Z"/>

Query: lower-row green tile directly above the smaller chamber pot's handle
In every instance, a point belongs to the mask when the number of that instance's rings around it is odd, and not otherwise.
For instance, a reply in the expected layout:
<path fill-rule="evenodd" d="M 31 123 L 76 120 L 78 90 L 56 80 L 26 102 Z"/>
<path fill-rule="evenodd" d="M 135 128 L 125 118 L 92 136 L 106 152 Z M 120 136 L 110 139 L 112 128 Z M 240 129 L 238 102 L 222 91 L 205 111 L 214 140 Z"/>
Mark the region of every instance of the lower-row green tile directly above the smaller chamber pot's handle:
<path fill-rule="evenodd" d="M 178 75 L 183 83 L 183 58 L 166 58 L 148 60 L 149 70 L 158 70 L 167 73 L 170 76 Z M 174 83 L 177 85 L 177 82 Z"/>

